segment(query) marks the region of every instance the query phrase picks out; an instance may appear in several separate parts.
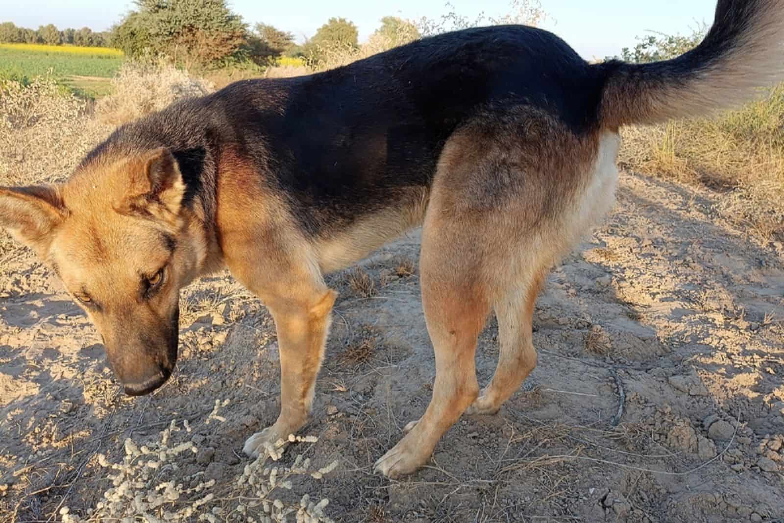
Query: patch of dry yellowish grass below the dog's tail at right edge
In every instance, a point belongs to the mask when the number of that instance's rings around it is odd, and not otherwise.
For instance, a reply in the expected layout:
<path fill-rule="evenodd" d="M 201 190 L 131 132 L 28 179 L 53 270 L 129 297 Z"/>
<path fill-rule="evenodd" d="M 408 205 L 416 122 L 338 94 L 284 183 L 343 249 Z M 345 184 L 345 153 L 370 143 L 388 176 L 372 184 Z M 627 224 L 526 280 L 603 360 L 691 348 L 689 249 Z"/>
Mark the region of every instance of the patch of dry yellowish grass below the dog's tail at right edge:
<path fill-rule="evenodd" d="M 627 168 L 728 193 L 720 214 L 767 243 L 784 237 L 784 85 L 713 119 L 626 128 Z"/>

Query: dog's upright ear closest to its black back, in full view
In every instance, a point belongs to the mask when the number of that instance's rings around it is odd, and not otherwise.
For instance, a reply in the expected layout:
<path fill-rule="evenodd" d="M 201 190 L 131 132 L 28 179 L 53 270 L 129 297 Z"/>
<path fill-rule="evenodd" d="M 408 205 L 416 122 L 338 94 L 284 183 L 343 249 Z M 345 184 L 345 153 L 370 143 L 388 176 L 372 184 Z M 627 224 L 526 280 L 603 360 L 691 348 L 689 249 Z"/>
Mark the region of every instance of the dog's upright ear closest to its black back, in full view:
<path fill-rule="evenodd" d="M 141 171 L 132 175 L 125 210 L 143 211 L 159 218 L 165 218 L 162 214 L 167 212 L 179 215 L 185 183 L 174 155 L 161 147 L 147 153 L 141 163 Z"/>

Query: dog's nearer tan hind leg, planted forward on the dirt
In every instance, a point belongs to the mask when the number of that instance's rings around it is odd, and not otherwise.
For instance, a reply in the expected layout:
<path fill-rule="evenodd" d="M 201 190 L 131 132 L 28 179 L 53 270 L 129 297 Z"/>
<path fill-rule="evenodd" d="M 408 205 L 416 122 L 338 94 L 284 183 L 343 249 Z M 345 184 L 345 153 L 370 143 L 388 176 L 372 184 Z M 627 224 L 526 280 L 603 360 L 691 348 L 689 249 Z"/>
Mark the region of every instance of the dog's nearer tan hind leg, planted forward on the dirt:
<path fill-rule="evenodd" d="M 433 396 L 423 417 L 376 462 L 376 471 L 394 478 L 430 458 L 435 445 L 479 393 L 474 353 L 489 312 L 481 278 L 479 238 L 463 223 L 439 216 L 430 204 L 422 233 L 420 281 L 427 331 L 435 352 Z M 474 251 L 474 254 L 472 254 Z"/>

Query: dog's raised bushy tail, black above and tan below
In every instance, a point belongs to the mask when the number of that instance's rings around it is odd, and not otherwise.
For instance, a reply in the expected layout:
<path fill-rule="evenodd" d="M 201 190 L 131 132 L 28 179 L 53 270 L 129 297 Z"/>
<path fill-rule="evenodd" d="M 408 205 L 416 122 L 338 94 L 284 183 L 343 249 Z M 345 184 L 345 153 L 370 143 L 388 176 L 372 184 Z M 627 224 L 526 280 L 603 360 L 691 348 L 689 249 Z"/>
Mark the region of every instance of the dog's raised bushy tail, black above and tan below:
<path fill-rule="evenodd" d="M 655 63 L 609 61 L 601 122 L 607 127 L 694 117 L 748 101 L 784 78 L 784 0 L 718 0 L 695 49 Z"/>

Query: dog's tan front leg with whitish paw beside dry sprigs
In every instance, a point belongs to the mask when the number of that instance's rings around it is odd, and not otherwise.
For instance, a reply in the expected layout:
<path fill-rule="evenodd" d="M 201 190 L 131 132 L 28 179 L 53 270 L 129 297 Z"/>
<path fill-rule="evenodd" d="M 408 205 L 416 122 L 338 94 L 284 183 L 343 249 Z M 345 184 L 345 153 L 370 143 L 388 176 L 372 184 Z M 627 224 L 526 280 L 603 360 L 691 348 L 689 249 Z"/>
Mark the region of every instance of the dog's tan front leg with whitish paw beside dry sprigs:
<path fill-rule="evenodd" d="M 246 454 L 257 456 L 263 442 L 288 438 L 307 421 L 336 297 L 334 290 L 326 290 L 310 302 L 315 305 L 291 301 L 268 304 L 281 354 L 281 414 L 274 425 L 248 438 L 243 449 Z"/>

